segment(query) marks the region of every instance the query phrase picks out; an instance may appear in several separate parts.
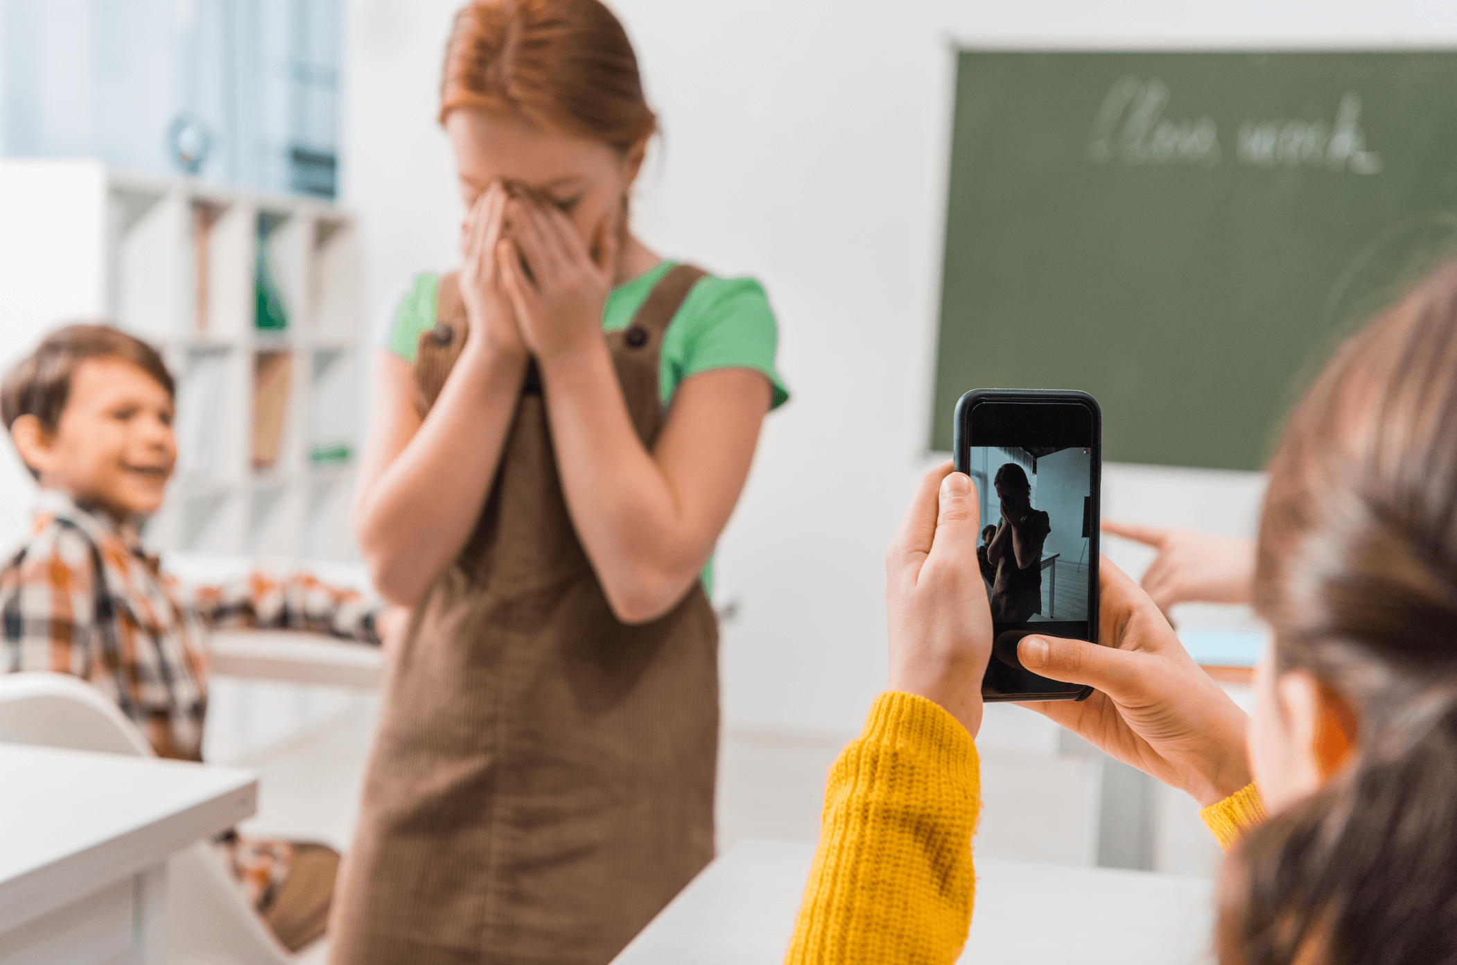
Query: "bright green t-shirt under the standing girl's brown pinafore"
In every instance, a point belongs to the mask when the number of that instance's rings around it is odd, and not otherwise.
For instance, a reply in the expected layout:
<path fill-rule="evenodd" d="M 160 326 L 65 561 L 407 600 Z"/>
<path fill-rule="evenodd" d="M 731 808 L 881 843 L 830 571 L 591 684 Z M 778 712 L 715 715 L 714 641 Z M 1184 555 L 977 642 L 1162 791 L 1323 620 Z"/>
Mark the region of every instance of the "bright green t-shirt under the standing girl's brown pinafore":
<path fill-rule="evenodd" d="M 661 261 L 650 271 L 619 284 L 608 294 L 602 308 L 602 331 L 627 328 L 647 300 L 653 286 L 678 262 Z M 405 362 L 415 360 L 420 335 L 436 325 L 436 287 L 440 276 L 415 276 L 411 286 L 395 302 L 386 318 L 383 347 Z M 778 325 L 769 309 L 769 299 L 753 278 L 717 278 L 705 276 L 688 292 L 667 331 L 659 353 L 657 389 L 663 405 L 683 379 L 712 369 L 753 369 L 774 386 L 778 408 L 788 398 L 788 389 L 774 367 Z M 712 558 L 704 567 L 704 590 L 712 596 Z"/>

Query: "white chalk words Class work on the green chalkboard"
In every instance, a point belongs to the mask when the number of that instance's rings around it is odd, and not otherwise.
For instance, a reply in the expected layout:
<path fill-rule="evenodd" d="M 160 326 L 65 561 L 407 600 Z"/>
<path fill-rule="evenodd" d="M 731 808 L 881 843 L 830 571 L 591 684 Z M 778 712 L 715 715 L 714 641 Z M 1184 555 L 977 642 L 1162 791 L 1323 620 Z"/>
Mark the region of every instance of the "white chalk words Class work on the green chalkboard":
<path fill-rule="evenodd" d="M 1220 128 L 1208 114 L 1198 118 L 1164 117 L 1169 85 L 1158 77 L 1119 77 L 1093 118 L 1087 157 L 1094 163 L 1139 165 L 1220 163 Z M 1254 168 L 1324 166 L 1358 175 L 1380 173 L 1381 156 L 1367 150 L 1361 130 L 1361 98 L 1348 90 L 1336 108 L 1336 120 L 1276 118 L 1243 121 L 1234 156 Z"/>

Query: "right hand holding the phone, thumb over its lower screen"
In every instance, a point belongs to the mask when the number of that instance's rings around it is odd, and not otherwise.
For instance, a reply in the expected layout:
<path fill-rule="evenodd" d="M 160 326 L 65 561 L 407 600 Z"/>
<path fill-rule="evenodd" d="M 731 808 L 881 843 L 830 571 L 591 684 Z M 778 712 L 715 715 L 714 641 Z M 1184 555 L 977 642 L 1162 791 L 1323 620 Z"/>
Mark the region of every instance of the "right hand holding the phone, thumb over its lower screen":
<path fill-rule="evenodd" d="M 1083 703 L 1023 707 L 1182 787 L 1202 806 L 1253 780 L 1244 711 L 1193 662 L 1148 595 L 1106 557 L 1099 563 L 1099 643 L 1023 637 L 1017 657 L 1029 671 L 1097 688 Z"/>

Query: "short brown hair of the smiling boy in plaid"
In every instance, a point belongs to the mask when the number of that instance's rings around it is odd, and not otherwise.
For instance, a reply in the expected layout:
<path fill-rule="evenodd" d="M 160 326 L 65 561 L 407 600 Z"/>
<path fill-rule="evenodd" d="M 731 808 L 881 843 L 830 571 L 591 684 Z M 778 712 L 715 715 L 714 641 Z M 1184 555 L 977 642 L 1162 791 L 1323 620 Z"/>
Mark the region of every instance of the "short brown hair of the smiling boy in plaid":
<path fill-rule="evenodd" d="M 0 383 L 0 417 L 6 430 L 22 415 L 35 415 L 45 431 L 55 431 L 71 394 L 71 376 L 87 359 L 130 362 L 176 398 L 172 373 L 147 343 L 111 325 L 66 325 L 42 338 L 35 351 L 17 362 Z"/>

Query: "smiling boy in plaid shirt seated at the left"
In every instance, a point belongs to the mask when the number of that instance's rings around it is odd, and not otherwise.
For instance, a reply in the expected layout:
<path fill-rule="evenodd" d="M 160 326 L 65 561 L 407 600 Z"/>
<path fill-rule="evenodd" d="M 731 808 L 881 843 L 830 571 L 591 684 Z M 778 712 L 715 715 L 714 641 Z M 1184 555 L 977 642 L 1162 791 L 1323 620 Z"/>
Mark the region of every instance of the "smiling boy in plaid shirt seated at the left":
<path fill-rule="evenodd" d="M 41 485 L 31 535 L 0 563 L 0 672 L 73 673 L 101 688 L 160 757 L 201 759 L 210 625 L 243 622 L 377 644 L 382 608 L 306 574 L 184 589 L 141 548 L 176 465 L 175 383 L 162 357 L 106 325 L 48 335 L 0 386 L 0 414 Z M 290 949 L 323 931 L 338 856 L 322 845 L 224 848 Z"/>

